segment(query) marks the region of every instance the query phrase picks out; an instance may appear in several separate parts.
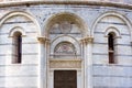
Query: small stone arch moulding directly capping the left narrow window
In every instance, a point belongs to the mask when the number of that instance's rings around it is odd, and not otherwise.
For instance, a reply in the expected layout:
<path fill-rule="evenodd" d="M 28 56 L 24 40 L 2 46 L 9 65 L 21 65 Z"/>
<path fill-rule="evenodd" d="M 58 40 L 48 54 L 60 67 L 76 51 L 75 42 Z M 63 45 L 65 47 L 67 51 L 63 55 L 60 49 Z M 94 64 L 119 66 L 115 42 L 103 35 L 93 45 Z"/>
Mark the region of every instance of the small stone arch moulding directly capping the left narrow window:
<path fill-rule="evenodd" d="M 20 32 L 20 33 L 22 33 L 22 36 L 26 36 L 26 33 L 25 33 L 25 31 L 23 30 L 23 28 L 21 28 L 21 26 L 15 26 L 15 28 L 13 28 L 13 29 L 10 30 L 10 32 L 9 32 L 9 37 L 13 37 L 15 32 Z"/>

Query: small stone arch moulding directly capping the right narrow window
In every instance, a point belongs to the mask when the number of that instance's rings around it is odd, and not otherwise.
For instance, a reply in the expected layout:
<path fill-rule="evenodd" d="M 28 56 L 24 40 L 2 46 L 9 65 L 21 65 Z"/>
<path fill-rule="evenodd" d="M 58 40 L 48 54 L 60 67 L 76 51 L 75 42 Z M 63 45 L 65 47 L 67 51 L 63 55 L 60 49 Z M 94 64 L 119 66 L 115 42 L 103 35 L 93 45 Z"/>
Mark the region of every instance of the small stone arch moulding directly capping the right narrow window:
<path fill-rule="evenodd" d="M 114 33 L 116 37 L 121 38 L 121 33 L 119 32 L 119 30 L 114 26 L 109 26 L 106 32 L 105 32 L 105 36 L 108 37 L 109 33 Z"/>

